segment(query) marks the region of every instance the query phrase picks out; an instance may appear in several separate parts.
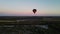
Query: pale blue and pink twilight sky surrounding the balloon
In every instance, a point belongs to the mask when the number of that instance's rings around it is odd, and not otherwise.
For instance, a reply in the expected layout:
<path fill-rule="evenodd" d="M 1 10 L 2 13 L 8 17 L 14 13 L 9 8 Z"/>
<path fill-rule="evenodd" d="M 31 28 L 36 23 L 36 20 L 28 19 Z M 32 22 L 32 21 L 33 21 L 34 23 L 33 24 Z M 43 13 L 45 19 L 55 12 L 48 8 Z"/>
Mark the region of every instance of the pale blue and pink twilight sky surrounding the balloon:
<path fill-rule="evenodd" d="M 60 0 L 0 0 L 0 16 L 60 16 Z"/>

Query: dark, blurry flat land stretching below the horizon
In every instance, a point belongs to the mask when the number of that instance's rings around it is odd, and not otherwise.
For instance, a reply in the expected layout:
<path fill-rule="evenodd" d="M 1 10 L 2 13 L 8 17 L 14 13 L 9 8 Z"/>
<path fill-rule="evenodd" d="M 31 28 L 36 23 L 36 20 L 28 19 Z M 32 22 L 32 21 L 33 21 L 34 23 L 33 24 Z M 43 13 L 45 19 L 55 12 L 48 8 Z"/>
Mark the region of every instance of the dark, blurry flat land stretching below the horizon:
<path fill-rule="evenodd" d="M 60 34 L 60 17 L 1 16 L 0 34 Z"/>

